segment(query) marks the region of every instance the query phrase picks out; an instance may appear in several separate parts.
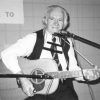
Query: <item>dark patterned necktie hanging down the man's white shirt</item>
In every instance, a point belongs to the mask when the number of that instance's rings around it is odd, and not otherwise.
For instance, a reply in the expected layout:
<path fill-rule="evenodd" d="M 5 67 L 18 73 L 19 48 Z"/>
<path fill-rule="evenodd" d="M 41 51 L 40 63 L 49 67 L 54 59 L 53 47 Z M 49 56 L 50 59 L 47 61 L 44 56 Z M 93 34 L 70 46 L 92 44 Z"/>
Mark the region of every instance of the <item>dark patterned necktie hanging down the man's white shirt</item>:
<path fill-rule="evenodd" d="M 56 38 L 55 37 L 52 39 L 52 42 L 55 44 L 55 42 L 56 42 Z M 57 47 L 54 44 L 51 45 L 51 49 L 57 51 Z M 59 62 L 59 58 L 58 58 L 57 52 L 51 51 L 51 54 L 52 54 L 53 59 L 56 61 L 57 65 L 58 65 L 58 70 L 61 71 L 62 67 L 61 67 L 61 64 Z"/>

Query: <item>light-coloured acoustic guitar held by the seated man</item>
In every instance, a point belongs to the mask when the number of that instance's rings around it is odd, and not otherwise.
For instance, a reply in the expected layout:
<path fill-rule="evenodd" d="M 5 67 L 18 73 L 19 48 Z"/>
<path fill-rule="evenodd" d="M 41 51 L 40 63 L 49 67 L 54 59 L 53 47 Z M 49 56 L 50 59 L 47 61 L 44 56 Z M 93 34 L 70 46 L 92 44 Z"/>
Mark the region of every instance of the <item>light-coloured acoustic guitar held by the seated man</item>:
<path fill-rule="evenodd" d="M 38 60 L 28 60 L 25 58 L 18 58 L 18 62 L 24 73 L 29 75 L 48 75 L 53 79 L 39 79 L 39 78 L 29 78 L 32 82 L 34 88 L 36 89 L 36 94 L 51 94 L 56 91 L 59 85 L 59 79 L 65 78 L 75 78 L 82 77 L 81 70 L 75 71 L 58 71 L 56 62 L 53 59 L 38 59 Z M 92 70 L 96 73 L 95 69 L 84 69 Z"/>

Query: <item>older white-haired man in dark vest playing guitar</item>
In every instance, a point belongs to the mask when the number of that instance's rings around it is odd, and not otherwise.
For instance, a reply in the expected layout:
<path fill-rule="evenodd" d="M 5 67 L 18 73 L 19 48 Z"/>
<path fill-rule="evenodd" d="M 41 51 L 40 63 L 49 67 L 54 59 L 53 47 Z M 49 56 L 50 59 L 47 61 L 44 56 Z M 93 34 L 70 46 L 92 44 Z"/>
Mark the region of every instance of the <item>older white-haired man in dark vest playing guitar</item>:
<path fill-rule="evenodd" d="M 54 33 L 60 33 L 61 30 L 68 29 L 70 25 L 68 12 L 58 5 L 49 6 L 43 18 L 43 24 L 43 29 L 19 39 L 15 44 L 1 53 L 2 60 L 6 67 L 14 74 L 24 74 L 24 71 L 18 63 L 18 57 L 24 57 L 30 60 L 41 58 L 54 59 L 51 50 L 45 48 L 51 48 L 48 42 L 52 44 L 52 40 L 55 38 L 55 44 L 61 45 L 57 46 L 57 50 L 62 51 L 61 54 L 58 53 L 58 58 L 56 58 L 59 60 L 59 64 L 57 63 L 58 67 L 61 67 L 60 69 L 58 68 L 58 70 L 80 70 L 75 58 L 71 38 L 64 38 L 64 40 L 67 41 L 67 43 L 65 43 L 63 39 L 53 35 Z M 23 92 L 30 96 L 27 100 L 78 100 L 72 80 L 73 78 L 61 79 L 57 90 L 52 94 L 34 95 L 34 92 L 37 91 L 32 82 L 27 78 L 19 78 Z"/>

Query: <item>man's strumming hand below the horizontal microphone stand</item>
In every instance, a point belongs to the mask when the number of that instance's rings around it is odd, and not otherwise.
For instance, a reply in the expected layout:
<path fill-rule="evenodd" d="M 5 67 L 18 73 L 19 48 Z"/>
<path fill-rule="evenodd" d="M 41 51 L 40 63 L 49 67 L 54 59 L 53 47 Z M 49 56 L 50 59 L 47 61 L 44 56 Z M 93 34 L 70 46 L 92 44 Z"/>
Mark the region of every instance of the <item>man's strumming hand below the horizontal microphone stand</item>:
<path fill-rule="evenodd" d="M 23 92 L 28 96 L 34 96 L 34 93 L 36 91 L 34 90 L 34 87 L 30 80 L 28 80 L 27 78 L 19 78 L 19 81 Z"/>

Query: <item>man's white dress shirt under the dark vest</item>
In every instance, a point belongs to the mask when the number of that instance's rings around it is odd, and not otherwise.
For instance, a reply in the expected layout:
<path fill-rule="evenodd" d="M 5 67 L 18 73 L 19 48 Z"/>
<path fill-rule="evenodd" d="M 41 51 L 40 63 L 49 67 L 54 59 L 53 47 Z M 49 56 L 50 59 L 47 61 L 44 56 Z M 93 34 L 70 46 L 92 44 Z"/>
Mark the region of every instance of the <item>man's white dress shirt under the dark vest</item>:
<path fill-rule="evenodd" d="M 35 33 L 28 34 L 22 39 L 19 39 L 15 44 L 11 45 L 9 48 L 1 52 L 2 61 L 12 73 L 16 74 L 21 71 L 17 57 L 29 56 L 35 46 L 36 39 L 37 35 Z M 47 41 L 52 42 L 52 35 L 49 32 L 45 33 L 44 47 L 50 48 L 51 45 L 48 44 Z M 80 68 L 77 66 L 71 39 L 68 39 L 68 41 L 70 43 L 70 49 L 68 52 L 69 70 L 79 70 Z M 59 44 L 59 39 L 57 39 L 57 43 Z M 62 48 L 57 47 L 57 50 L 62 51 Z M 58 57 L 62 65 L 62 69 L 66 70 L 67 62 L 65 60 L 64 54 L 58 54 Z M 43 49 L 40 58 L 52 59 L 51 52 Z"/>

